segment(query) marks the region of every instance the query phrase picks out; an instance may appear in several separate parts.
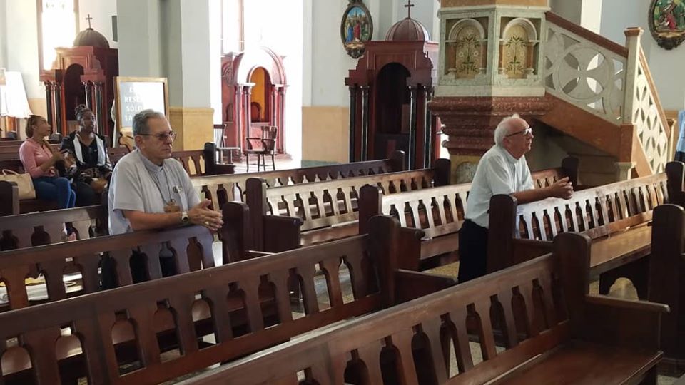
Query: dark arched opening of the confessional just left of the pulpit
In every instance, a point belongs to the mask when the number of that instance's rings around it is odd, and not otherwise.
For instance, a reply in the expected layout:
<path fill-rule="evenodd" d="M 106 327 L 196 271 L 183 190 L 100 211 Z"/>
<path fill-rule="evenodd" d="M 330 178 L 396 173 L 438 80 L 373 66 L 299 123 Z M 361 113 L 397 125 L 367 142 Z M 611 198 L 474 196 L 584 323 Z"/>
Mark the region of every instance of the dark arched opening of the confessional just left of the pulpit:
<path fill-rule="evenodd" d="M 407 78 L 411 73 L 400 63 L 389 63 L 378 73 L 373 158 L 384 159 L 394 150 L 409 149 L 410 93 Z M 381 97 L 382 96 L 382 97 Z"/>

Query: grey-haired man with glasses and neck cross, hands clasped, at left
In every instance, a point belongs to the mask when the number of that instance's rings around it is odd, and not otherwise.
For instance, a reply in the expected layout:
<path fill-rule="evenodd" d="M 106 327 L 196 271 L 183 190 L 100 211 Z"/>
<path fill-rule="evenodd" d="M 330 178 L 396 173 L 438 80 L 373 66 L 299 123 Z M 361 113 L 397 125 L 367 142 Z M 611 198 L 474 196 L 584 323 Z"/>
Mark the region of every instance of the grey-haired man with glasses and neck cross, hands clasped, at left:
<path fill-rule="evenodd" d="M 116 163 L 109 186 L 110 234 L 189 223 L 218 230 L 223 225 L 221 213 L 208 208 L 210 200 L 200 200 L 183 165 L 171 158 L 176 133 L 166 117 L 152 110 L 137 113 L 133 116 L 133 136 L 136 150 Z M 171 250 L 161 252 L 164 275 L 176 272 L 172 256 Z M 133 268 L 132 258 L 134 281 L 144 279 L 142 260 L 141 267 Z"/>

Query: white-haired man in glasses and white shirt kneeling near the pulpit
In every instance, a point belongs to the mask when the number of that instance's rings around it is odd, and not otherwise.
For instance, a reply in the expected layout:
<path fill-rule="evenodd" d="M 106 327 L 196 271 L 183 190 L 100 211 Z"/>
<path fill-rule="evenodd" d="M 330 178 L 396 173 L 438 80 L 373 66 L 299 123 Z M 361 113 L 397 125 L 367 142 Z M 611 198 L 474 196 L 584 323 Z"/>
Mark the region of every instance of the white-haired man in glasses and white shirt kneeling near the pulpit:
<path fill-rule="evenodd" d="M 492 195 L 511 194 L 519 203 L 527 203 L 547 197 L 568 199 L 573 193 L 568 178 L 547 188 L 534 188 L 525 157 L 533 143 L 532 128 L 517 114 L 497 125 L 494 143 L 478 163 L 459 232 L 459 282 L 487 273 L 488 210 Z"/>

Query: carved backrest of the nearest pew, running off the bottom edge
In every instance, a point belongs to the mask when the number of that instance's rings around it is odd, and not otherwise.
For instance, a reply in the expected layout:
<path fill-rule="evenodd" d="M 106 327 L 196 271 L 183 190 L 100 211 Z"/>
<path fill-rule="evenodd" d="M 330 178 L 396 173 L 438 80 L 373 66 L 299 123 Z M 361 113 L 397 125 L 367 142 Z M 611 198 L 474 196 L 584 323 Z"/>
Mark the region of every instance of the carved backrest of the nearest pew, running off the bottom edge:
<path fill-rule="evenodd" d="M 557 276 L 568 263 L 574 263 L 572 270 L 587 268 L 589 240 L 567 236 L 574 239 L 564 247 L 572 247 L 576 255 L 566 259 L 575 261 L 559 263 L 558 255 L 543 255 L 287 342 L 184 384 L 298 384 L 298 372 L 318 384 L 345 384 L 347 378 L 364 377 L 369 384 L 387 384 L 390 378 L 405 384 L 487 383 L 568 341 L 574 324 L 562 304 L 582 303 L 584 292 L 582 286 Z M 503 344 L 498 345 L 504 346 L 496 346 L 494 329 L 502 332 Z M 479 337 L 480 349 L 471 349 L 473 335 Z M 450 374 L 453 360 L 458 376 Z"/>

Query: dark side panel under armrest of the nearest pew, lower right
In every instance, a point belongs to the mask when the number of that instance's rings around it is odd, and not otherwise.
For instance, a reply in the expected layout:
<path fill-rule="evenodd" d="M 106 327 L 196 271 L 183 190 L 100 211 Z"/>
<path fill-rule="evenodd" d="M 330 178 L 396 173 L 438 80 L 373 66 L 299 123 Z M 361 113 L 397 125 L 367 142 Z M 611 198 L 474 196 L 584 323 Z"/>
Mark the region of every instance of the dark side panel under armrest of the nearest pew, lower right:
<path fill-rule="evenodd" d="M 668 305 L 586 295 L 584 337 L 590 342 L 631 349 L 659 350 L 661 314 Z"/>

